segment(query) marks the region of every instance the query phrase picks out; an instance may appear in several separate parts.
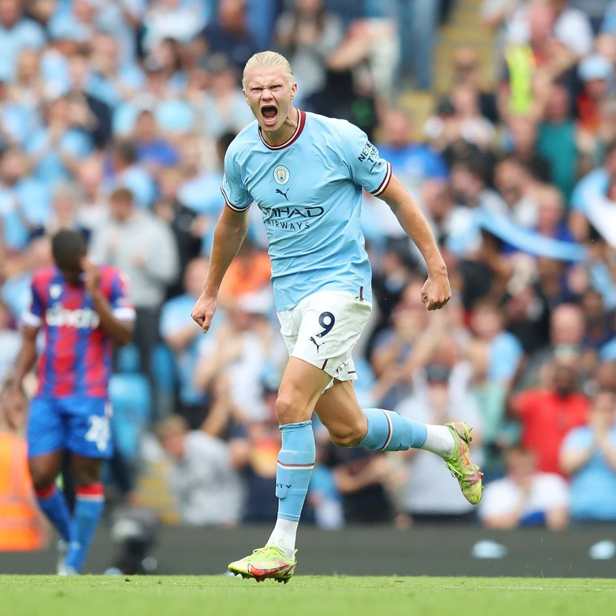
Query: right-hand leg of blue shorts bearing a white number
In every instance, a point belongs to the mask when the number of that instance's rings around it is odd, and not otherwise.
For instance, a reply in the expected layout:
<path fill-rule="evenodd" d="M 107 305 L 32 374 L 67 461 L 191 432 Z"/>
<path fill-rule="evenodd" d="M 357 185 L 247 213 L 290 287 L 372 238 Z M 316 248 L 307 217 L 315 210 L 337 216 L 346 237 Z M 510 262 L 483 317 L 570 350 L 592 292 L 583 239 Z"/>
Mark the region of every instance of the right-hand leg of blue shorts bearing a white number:
<path fill-rule="evenodd" d="M 104 398 L 70 397 L 62 400 L 67 418 L 66 448 L 83 458 L 110 458 L 111 406 Z"/>

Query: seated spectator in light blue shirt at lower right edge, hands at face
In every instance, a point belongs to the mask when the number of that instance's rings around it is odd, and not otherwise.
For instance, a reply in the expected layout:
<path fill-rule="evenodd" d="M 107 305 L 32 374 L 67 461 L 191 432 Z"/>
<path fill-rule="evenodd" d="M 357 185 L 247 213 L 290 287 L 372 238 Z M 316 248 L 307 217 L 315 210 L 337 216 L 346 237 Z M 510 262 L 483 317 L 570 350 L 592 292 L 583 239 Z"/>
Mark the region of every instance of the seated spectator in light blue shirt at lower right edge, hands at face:
<path fill-rule="evenodd" d="M 616 520 L 616 395 L 599 391 L 588 425 L 575 428 L 561 448 L 561 468 L 571 477 L 575 521 Z"/>

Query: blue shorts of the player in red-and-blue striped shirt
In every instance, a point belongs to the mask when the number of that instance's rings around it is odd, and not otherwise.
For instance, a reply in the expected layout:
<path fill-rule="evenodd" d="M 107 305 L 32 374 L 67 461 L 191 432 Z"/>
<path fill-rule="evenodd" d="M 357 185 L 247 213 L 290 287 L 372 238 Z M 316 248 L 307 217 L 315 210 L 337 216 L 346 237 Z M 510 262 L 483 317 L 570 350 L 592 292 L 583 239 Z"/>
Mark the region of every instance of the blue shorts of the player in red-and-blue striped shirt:
<path fill-rule="evenodd" d="M 67 449 L 84 458 L 110 458 L 111 405 L 105 398 L 39 398 L 28 418 L 28 457 Z"/>

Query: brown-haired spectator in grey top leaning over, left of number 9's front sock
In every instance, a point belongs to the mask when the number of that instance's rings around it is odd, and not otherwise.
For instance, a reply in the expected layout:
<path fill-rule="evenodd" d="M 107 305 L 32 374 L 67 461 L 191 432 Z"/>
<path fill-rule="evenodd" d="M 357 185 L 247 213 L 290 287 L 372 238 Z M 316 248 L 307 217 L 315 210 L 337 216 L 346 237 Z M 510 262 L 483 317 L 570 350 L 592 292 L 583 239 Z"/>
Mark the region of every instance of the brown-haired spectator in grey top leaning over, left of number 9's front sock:
<path fill-rule="evenodd" d="M 172 468 L 169 485 L 182 521 L 191 525 L 233 526 L 240 519 L 242 490 L 229 448 L 206 432 L 188 430 L 174 415 L 156 428 Z"/>

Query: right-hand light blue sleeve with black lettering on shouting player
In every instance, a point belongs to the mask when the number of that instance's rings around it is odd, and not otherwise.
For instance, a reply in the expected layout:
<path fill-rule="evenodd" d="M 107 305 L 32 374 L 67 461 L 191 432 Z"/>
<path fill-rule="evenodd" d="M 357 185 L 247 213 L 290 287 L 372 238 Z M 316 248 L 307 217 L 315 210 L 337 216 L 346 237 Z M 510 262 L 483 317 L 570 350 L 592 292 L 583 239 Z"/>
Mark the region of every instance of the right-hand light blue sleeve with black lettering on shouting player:
<path fill-rule="evenodd" d="M 391 164 L 379 156 L 376 145 L 371 144 L 365 132 L 352 124 L 348 126 L 344 134 L 344 147 L 351 179 L 378 197 L 391 180 Z"/>

